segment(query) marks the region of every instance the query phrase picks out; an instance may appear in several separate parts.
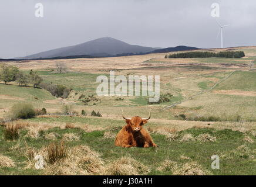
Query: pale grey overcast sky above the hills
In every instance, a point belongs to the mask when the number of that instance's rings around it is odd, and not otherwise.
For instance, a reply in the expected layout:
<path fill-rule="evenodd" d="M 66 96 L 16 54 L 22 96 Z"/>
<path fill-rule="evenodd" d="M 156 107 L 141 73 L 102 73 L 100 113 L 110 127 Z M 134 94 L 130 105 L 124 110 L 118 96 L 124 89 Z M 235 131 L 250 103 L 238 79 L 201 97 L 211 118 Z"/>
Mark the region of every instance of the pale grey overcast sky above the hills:
<path fill-rule="evenodd" d="M 36 18 L 35 4 L 43 4 Z M 256 46 L 255 0 L 1 0 L 0 58 L 113 37 L 148 47 L 221 46 L 211 4 L 220 4 L 224 47 Z"/>

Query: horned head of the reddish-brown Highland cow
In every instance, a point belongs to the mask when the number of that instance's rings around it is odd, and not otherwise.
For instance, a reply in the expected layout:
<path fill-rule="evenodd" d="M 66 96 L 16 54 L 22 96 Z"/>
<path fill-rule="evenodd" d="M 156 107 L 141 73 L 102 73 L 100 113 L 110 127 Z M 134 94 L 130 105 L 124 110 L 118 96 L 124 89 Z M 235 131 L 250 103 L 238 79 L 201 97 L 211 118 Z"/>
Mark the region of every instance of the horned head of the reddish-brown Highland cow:
<path fill-rule="evenodd" d="M 132 130 L 137 133 L 142 129 L 143 124 L 147 123 L 147 120 L 150 119 L 151 109 L 149 110 L 149 117 L 147 117 L 147 118 L 142 118 L 139 116 L 135 116 L 132 118 L 126 118 L 123 115 L 123 109 L 122 109 L 122 116 L 123 116 L 123 119 L 126 120 L 126 130 L 127 131 Z"/>

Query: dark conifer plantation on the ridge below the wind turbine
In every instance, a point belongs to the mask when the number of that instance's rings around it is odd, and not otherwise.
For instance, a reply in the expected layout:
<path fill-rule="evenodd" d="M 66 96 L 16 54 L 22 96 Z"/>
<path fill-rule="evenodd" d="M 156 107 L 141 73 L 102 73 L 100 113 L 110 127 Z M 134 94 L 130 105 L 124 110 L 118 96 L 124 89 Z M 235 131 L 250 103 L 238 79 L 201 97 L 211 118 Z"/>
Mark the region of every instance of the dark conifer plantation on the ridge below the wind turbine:
<path fill-rule="evenodd" d="M 164 58 L 242 58 L 244 56 L 244 51 L 222 51 L 219 53 L 195 51 L 187 53 L 167 54 Z"/>

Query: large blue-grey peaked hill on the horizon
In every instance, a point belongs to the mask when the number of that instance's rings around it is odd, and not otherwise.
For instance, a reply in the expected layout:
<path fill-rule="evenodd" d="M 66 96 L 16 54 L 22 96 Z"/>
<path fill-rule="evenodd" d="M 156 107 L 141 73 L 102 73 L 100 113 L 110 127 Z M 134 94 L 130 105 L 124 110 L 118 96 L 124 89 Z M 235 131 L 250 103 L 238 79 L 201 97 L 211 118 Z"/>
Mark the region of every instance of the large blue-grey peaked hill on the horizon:
<path fill-rule="evenodd" d="M 19 59 L 33 59 L 33 58 L 55 58 L 55 57 L 68 57 L 68 56 L 94 56 L 94 57 L 107 57 L 116 56 L 117 54 L 137 54 L 149 53 L 156 50 L 153 47 L 143 47 L 130 45 L 120 40 L 111 37 L 102 37 L 100 39 L 87 41 L 75 46 L 62 47 L 44 51 L 41 53 L 32 54 L 28 57 L 16 57 Z"/>

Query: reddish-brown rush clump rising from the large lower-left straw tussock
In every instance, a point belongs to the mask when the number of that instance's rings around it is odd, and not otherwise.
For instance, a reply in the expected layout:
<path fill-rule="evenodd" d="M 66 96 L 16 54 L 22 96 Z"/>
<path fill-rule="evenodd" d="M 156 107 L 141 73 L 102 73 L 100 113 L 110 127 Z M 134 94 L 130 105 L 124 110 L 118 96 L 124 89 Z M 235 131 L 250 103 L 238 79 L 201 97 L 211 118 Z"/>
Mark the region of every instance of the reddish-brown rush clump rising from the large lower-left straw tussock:
<path fill-rule="evenodd" d="M 50 164 L 62 160 L 68 156 L 68 147 L 64 144 L 64 141 L 60 143 L 51 143 L 48 148 L 48 161 Z"/>

